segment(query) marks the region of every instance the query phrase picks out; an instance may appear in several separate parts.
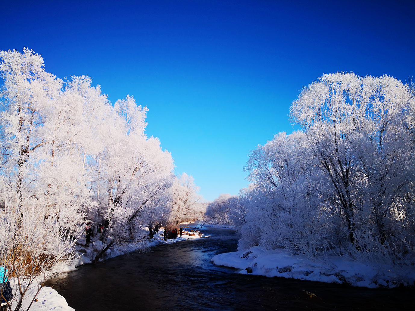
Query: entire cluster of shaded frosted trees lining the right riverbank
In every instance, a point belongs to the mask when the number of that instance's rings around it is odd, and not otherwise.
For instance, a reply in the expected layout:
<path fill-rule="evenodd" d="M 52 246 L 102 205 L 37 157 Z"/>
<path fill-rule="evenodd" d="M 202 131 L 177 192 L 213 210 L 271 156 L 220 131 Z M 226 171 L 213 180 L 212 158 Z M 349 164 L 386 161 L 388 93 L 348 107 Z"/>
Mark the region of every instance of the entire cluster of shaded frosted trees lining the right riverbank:
<path fill-rule="evenodd" d="M 304 88 L 291 107 L 301 131 L 249 153 L 239 247 L 409 260 L 414 105 L 388 76 L 335 73 Z"/>

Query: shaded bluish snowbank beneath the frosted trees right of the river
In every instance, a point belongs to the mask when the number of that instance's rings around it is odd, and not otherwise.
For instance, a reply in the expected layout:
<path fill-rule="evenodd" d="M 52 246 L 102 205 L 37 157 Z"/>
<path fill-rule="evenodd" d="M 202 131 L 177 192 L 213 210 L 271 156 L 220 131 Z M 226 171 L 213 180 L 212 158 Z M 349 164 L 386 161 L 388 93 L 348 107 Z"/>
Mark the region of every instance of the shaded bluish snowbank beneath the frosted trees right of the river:
<path fill-rule="evenodd" d="M 354 260 L 329 257 L 316 262 L 304 256 L 291 256 L 283 250 L 267 251 L 254 246 L 247 251 L 224 253 L 211 259 L 215 265 L 241 269 L 266 277 L 286 277 L 309 281 L 350 284 L 359 287 L 415 285 L 415 267 L 364 265 Z"/>

